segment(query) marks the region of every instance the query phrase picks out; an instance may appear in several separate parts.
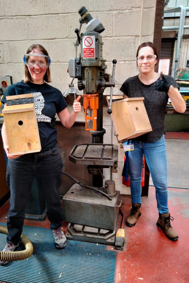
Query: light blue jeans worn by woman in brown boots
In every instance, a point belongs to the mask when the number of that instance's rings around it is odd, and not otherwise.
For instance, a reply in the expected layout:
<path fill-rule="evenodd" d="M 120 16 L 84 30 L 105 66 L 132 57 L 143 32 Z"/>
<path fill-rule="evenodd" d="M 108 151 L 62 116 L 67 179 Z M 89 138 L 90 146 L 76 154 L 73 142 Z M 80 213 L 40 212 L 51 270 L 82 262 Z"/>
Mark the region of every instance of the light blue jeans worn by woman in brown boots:
<path fill-rule="evenodd" d="M 134 151 L 129 151 L 132 203 L 141 203 L 142 157 L 144 154 L 155 186 L 157 209 L 160 214 L 169 212 L 165 135 L 152 143 L 130 140 L 129 144 L 134 144 Z"/>

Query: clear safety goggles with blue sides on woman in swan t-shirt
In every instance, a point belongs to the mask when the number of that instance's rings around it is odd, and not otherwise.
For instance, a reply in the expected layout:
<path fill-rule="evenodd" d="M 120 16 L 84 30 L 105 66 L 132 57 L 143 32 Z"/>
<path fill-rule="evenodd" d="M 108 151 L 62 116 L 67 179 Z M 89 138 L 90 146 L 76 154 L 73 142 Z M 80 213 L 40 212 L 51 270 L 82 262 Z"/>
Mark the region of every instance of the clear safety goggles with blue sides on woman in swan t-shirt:
<path fill-rule="evenodd" d="M 30 67 L 35 67 L 37 64 L 40 67 L 48 67 L 50 65 L 50 57 L 41 53 L 30 52 L 24 55 L 24 64 Z"/>

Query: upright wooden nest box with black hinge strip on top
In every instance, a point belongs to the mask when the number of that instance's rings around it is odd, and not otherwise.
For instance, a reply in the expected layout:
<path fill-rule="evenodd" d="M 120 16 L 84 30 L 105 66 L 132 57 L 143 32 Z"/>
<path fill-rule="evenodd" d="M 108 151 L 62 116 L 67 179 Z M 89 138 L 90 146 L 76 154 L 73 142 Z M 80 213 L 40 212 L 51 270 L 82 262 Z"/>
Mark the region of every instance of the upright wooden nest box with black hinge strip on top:
<path fill-rule="evenodd" d="M 6 97 L 2 113 L 11 155 L 39 152 L 40 136 L 33 94 Z"/>

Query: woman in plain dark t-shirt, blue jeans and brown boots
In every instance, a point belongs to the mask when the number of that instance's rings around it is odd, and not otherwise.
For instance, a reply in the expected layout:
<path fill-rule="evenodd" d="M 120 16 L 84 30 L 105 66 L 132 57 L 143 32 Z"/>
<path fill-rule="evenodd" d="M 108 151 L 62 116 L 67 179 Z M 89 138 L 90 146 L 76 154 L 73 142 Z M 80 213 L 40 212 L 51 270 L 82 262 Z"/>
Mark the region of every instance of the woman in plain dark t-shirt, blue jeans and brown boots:
<path fill-rule="evenodd" d="M 178 233 L 171 227 L 167 204 L 167 159 L 165 149 L 165 108 L 168 98 L 172 106 L 179 113 L 186 110 L 186 104 L 178 91 L 178 84 L 169 75 L 155 72 L 158 56 L 156 47 L 152 42 L 142 43 L 137 50 L 137 67 L 139 75 L 128 78 L 120 90 L 124 98 L 144 97 L 144 105 L 149 117 L 152 131 L 129 139 L 128 143 L 134 145 L 129 151 L 129 175 L 131 186 L 132 208 L 126 219 L 127 226 L 134 226 L 141 215 L 141 177 L 142 157 L 145 156 L 156 191 L 159 218 L 157 226 L 172 241 L 178 239 Z"/>

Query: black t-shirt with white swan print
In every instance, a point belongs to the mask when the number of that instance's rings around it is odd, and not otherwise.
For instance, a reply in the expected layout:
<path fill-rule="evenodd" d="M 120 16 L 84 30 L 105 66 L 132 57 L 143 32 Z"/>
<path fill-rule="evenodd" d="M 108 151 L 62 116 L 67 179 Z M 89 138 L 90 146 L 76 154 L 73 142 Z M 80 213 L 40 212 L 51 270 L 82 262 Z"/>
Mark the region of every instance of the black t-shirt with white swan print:
<path fill-rule="evenodd" d="M 40 134 L 42 150 L 52 148 L 57 143 L 57 129 L 54 126 L 55 115 L 67 107 L 62 93 L 47 83 L 35 84 L 31 82 L 10 85 L 2 99 L 6 96 L 33 93 L 37 124 Z"/>

